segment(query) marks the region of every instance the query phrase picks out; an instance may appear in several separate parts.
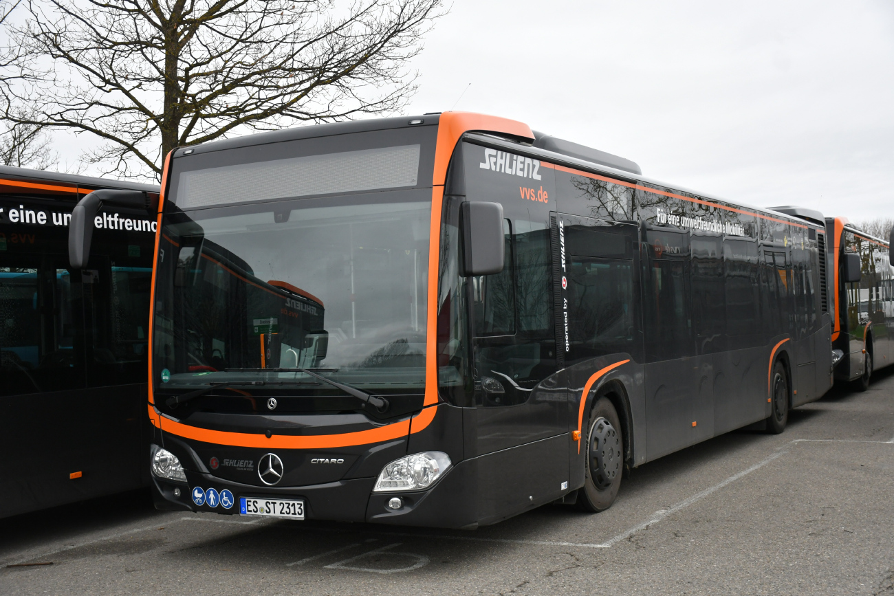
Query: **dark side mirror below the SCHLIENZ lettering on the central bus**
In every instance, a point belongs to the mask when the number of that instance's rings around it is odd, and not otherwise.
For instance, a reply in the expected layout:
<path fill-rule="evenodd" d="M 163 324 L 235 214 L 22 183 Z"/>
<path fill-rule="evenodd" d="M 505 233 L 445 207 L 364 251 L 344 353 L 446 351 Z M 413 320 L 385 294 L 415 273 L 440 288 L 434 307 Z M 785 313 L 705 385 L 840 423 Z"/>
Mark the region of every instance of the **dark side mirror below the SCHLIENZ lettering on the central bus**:
<path fill-rule="evenodd" d="M 462 204 L 465 244 L 465 274 L 493 275 L 502 272 L 505 243 L 502 205 L 483 201 Z"/>

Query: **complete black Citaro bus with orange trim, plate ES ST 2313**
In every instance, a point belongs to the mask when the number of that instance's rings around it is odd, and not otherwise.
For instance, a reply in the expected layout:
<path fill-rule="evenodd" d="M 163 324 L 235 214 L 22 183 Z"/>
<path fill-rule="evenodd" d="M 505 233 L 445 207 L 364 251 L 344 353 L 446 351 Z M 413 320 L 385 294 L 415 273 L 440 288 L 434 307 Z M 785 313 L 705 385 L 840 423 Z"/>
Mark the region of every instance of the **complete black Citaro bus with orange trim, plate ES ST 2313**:
<path fill-rule="evenodd" d="M 739 206 L 474 113 L 164 166 L 160 508 L 474 528 L 831 385 L 822 215 Z"/>

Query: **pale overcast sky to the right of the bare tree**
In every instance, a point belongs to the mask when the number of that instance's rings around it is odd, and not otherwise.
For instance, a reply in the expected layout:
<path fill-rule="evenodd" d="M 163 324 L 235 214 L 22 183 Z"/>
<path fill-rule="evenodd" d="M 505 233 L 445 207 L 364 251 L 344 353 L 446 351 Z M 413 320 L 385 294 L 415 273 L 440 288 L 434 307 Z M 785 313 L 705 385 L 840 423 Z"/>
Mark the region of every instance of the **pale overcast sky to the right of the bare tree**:
<path fill-rule="evenodd" d="M 731 200 L 894 216 L 890 0 L 455 0 L 415 65 L 408 113 L 455 103 Z"/>

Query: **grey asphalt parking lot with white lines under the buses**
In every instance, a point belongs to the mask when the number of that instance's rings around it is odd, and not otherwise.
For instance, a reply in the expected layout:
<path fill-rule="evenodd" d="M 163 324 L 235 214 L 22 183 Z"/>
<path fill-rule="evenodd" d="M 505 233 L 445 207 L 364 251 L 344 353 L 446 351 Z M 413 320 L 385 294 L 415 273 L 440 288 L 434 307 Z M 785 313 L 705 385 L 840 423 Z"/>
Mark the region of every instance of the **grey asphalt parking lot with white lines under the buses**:
<path fill-rule="evenodd" d="M 886 370 L 781 435 L 641 466 L 595 515 L 451 532 L 162 513 L 136 492 L 0 520 L 0 593 L 894 594 L 892 494 Z"/>

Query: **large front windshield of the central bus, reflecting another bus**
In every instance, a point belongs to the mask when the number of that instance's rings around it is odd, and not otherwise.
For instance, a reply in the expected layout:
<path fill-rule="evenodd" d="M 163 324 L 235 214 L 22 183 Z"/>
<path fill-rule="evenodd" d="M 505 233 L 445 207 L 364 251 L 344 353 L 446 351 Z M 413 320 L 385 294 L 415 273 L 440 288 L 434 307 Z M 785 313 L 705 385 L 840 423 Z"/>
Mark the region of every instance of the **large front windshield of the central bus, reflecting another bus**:
<path fill-rule="evenodd" d="M 156 387 L 338 391 L 309 369 L 369 393 L 420 393 L 430 215 L 418 189 L 166 215 Z"/>

